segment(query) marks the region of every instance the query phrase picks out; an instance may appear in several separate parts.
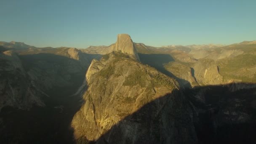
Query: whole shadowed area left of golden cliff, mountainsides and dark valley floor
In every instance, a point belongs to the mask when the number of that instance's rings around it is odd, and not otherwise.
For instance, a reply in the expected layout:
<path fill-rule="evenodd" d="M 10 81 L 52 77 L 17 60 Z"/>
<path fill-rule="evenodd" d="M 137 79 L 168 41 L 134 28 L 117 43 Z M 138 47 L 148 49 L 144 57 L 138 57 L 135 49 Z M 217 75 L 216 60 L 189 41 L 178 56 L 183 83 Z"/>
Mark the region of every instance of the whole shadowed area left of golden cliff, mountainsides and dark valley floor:
<path fill-rule="evenodd" d="M 11 60 L 12 57 L 8 56 Z M 72 95 L 82 85 L 85 72 L 95 57 L 99 55 L 80 53 L 81 61 L 54 53 L 23 53 L 17 55 L 24 69 L 22 75 L 20 69 L 13 68 L 13 63 L 1 65 L 0 99 L 5 107 L 0 111 L 0 143 L 73 143 L 70 123 L 83 100 Z M 26 88 L 27 85 L 32 85 L 33 89 Z M 26 90 L 42 91 L 45 95 L 22 92 Z M 14 92 L 13 98 L 11 92 Z M 5 96 L 8 97 L 5 99 Z M 26 104 L 33 97 L 38 97 L 44 106 Z"/>

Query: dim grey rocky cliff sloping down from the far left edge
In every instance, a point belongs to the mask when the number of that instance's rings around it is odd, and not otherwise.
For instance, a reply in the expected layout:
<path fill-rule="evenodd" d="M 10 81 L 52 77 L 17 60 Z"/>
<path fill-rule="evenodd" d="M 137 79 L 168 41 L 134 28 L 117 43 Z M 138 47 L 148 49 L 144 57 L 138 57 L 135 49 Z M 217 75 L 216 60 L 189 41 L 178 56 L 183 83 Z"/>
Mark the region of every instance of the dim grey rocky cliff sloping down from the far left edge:
<path fill-rule="evenodd" d="M 5 106 L 19 109 L 29 109 L 33 104 L 44 106 L 40 97 L 47 95 L 35 86 L 12 51 L 0 53 L 0 79 L 0 110 Z"/>

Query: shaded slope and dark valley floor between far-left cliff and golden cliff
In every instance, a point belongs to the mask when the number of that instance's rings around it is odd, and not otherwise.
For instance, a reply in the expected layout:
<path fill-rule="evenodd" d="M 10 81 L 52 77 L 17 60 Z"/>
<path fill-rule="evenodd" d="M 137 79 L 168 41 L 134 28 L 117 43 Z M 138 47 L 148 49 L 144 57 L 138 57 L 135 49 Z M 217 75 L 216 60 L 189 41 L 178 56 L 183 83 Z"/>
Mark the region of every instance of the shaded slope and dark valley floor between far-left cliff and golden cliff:
<path fill-rule="evenodd" d="M 3 49 L 5 50 L 5 49 Z M 35 70 L 54 81 L 66 80 L 67 84 L 53 85 L 41 97 L 45 107 L 33 106 L 30 110 L 4 107 L 0 112 L 1 144 L 72 144 L 72 117 L 83 104 L 81 96 L 72 96 L 85 80 L 92 59 L 99 55 L 82 53 L 85 59 L 78 61 L 53 53 L 18 55 L 26 72 Z M 81 58 L 82 59 L 82 58 Z M 29 78 L 29 76 L 26 76 Z M 38 81 L 37 84 L 40 84 Z M 40 86 L 40 85 L 39 85 Z M 87 85 L 84 90 L 86 91 Z M 1 97 L 1 95 L 0 95 Z M 25 96 L 24 96 L 25 99 Z"/>

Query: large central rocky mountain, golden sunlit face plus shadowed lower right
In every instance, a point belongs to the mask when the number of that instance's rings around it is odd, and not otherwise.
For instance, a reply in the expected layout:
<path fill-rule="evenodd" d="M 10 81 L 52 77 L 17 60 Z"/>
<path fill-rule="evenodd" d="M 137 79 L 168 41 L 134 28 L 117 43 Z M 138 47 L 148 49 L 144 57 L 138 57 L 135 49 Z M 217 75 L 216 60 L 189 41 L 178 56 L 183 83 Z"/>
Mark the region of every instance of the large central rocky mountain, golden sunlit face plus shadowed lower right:
<path fill-rule="evenodd" d="M 85 104 L 72 120 L 78 143 L 85 139 L 120 144 L 196 142 L 192 112 L 171 77 L 115 51 L 94 60 L 86 76 Z M 137 117 L 116 125 L 151 101 Z M 107 132 L 111 134 L 101 137 Z"/>

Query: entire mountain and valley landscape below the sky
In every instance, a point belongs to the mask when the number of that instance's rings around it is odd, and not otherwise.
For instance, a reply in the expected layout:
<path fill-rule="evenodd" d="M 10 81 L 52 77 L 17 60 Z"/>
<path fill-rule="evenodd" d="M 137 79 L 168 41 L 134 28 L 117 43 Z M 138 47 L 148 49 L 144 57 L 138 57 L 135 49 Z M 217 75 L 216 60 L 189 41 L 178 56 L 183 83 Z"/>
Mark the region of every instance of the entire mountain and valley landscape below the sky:
<path fill-rule="evenodd" d="M 0 52 L 0 143 L 256 143 L 255 41 Z"/>

